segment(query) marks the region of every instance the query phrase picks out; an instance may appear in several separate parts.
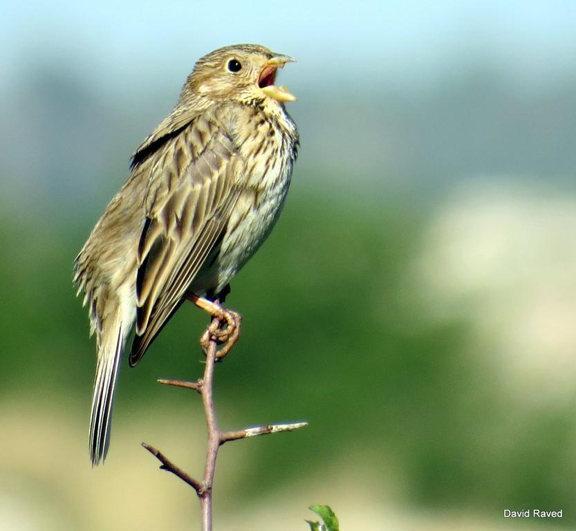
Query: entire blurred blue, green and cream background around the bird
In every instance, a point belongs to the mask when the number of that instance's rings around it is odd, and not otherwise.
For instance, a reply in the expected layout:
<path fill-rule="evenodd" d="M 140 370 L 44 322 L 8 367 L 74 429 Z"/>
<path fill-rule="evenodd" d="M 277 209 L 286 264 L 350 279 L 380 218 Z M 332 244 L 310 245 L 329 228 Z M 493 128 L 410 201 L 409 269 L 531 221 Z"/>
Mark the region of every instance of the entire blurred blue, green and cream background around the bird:
<path fill-rule="evenodd" d="M 243 337 L 221 425 L 308 420 L 223 447 L 215 527 L 573 529 L 576 4 L 11 2 L 0 19 L 0 519 L 195 529 L 207 318 L 183 306 L 124 362 L 104 467 L 95 344 L 71 267 L 196 59 L 257 42 L 301 154 L 284 214 L 232 283 Z M 503 510 L 563 510 L 561 520 Z"/>

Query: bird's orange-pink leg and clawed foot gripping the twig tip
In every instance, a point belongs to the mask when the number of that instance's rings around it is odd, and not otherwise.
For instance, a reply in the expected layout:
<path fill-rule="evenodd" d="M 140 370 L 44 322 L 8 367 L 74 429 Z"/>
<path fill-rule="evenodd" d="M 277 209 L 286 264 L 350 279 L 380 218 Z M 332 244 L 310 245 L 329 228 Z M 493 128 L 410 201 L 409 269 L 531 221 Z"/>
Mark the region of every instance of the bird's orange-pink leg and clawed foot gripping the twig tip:
<path fill-rule="evenodd" d="M 212 319 L 212 322 L 210 322 L 200 338 L 200 346 L 202 350 L 206 352 L 212 339 L 216 339 L 219 344 L 224 344 L 216 353 L 216 359 L 222 360 L 240 337 L 242 316 L 237 312 L 223 308 L 219 304 L 218 299 L 210 301 L 205 297 L 198 297 L 195 293 L 190 292 L 186 293 L 186 298 L 196 304 L 198 308 L 202 308 L 207 313 L 210 313 L 212 317 L 216 317 L 216 319 Z M 225 323 L 224 327 L 223 323 Z"/>

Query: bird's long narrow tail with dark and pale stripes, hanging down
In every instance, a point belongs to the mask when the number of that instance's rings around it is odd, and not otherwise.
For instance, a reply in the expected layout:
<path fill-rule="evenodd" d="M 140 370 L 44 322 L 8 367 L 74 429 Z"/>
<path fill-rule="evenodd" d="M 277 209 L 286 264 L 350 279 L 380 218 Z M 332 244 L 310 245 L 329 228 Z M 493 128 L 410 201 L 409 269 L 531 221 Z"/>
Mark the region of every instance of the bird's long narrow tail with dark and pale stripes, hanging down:
<path fill-rule="evenodd" d="M 108 452 L 114 391 L 125 341 L 120 319 L 98 337 L 89 440 L 93 467 L 100 465 Z"/>

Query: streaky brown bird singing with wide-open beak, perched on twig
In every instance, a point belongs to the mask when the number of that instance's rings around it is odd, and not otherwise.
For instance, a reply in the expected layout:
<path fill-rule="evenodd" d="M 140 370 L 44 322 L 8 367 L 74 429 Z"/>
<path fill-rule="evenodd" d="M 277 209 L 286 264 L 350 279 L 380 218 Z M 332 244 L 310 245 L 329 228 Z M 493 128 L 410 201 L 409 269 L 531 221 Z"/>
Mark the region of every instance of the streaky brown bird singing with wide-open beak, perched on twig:
<path fill-rule="evenodd" d="M 73 282 L 96 336 L 93 467 L 108 453 L 118 370 L 132 333 L 130 366 L 186 299 L 236 323 L 221 303 L 277 222 L 299 149 L 285 106 L 297 98 L 275 84 L 278 69 L 293 61 L 258 44 L 198 59 L 74 261 Z"/>

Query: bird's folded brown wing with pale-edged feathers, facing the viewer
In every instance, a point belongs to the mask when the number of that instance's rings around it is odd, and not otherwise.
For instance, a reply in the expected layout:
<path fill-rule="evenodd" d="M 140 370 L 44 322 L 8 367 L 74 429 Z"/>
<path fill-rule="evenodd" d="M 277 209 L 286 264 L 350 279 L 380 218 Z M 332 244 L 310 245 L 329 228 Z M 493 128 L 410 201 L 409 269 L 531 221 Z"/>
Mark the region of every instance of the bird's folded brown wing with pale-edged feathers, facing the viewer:
<path fill-rule="evenodd" d="M 138 247 L 133 366 L 183 301 L 217 245 L 239 196 L 234 142 L 201 116 L 162 145 L 150 167 L 147 220 Z"/>

